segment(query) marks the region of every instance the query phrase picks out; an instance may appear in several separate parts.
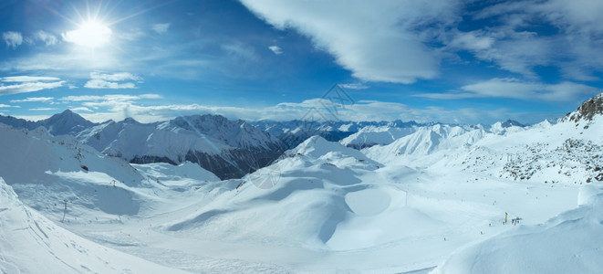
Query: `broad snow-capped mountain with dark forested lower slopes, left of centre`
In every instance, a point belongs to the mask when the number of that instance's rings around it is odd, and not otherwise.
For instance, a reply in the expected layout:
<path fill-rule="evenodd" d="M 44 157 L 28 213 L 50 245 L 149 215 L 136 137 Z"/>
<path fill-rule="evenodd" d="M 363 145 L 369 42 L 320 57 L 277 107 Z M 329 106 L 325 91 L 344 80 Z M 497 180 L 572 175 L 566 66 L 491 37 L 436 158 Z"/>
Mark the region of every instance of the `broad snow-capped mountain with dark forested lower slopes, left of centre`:
<path fill-rule="evenodd" d="M 276 160 L 275 137 L 245 121 L 219 115 L 140 123 L 129 118 L 88 128 L 78 140 L 130 163 L 199 163 L 222 179 L 239 178 Z"/>

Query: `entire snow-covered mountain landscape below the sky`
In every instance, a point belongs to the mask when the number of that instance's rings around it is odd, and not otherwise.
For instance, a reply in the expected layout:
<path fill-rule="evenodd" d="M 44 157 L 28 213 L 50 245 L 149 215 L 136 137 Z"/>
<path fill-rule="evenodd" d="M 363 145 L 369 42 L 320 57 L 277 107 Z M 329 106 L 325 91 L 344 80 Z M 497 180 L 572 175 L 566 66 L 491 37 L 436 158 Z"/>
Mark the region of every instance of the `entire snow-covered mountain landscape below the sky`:
<path fill-rule="evenodd" d="M 534 125 L 0 122 L 2 273 L 603 269 L 603 94 Z"/>

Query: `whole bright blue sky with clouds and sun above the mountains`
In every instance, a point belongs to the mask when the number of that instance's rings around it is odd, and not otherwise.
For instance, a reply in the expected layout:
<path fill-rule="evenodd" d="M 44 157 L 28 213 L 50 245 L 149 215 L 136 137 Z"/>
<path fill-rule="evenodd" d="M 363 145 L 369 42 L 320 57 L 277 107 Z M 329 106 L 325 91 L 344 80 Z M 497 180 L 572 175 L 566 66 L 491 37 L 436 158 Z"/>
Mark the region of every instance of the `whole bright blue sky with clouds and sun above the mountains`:
<path fill-rule="evenodd" d="M 0 113 L 526 123 L 603 92 L 603 2 L 0 2 Z M 332 94 L 331 94 L 332 95 Z M 352 103 L 353 102 L 353 103 Z"/>

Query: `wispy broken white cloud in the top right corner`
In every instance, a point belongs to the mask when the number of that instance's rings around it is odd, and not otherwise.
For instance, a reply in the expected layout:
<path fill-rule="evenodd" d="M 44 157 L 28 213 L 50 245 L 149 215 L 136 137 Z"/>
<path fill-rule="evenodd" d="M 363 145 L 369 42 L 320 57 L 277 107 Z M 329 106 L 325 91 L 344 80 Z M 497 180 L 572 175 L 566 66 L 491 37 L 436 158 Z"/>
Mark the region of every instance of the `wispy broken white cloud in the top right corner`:
<path fill-rule="evenodd" d="M 503 1 L 473 14 L 489 26 L 452 31 L 442 41 L 531 79 L 537 78 L 535 67 L 552 66 L 567 79 L 598 80 L 593 71 L 603 69 L 601 10 L 597 0 Z"/>

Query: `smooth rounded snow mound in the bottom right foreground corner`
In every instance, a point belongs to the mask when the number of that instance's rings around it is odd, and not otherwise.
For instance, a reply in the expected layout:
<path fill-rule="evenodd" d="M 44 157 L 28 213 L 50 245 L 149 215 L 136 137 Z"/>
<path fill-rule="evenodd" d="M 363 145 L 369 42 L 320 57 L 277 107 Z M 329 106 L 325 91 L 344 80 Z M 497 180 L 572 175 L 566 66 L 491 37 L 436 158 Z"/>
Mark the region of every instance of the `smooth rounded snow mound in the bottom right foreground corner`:
<path fill-rule="evenodd" d="M 431 273 L 598 273 L 603 193 L 543 225 L 522 226 L 460 248 Z"/>

